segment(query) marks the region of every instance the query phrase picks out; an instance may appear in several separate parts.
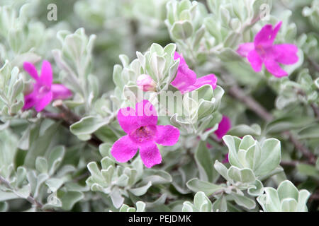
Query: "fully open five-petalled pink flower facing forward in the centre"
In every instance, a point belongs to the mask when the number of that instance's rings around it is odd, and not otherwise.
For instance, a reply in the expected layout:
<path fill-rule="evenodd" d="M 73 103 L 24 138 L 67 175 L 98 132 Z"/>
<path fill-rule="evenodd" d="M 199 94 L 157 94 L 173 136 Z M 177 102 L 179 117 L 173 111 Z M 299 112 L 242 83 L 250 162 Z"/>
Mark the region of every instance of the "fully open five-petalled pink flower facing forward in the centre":
<path fill-rule="evenodd" d="M 111 155 L 118 162 L 127 162 L 140 149 L 140 157 L 147 168 L 162 162 L 156 143 L 172 146 L 179 140 L 179 130 L 174 126 L 157 126 L 157 112 L 148 101 L 142 100 L 118 111 L 118 123 L 127 135 L 113 144 Z"/>

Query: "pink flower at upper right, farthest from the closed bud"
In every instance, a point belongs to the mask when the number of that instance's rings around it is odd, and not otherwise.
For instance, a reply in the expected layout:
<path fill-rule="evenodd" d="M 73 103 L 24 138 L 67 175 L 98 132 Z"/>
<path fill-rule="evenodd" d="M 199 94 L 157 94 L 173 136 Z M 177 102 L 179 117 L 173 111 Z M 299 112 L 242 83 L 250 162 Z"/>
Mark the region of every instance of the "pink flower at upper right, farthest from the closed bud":
<path fill-rule="evenodd" d="M 274 44 L 274 39 L 281 27 L 277 23 L 274 29 L 271 24 L 264 25 L 254 37 L 254 42 L 240 44 L 237 53 L 247 57 L 254 71 L 262 70 L 262 64 L 267 71 L 274 76 L 281 78 L 288 76 L 288 73 L 281 69 L 280 64 L 295 64 L 298 61 L 298 48 L 294 44 Z"/>

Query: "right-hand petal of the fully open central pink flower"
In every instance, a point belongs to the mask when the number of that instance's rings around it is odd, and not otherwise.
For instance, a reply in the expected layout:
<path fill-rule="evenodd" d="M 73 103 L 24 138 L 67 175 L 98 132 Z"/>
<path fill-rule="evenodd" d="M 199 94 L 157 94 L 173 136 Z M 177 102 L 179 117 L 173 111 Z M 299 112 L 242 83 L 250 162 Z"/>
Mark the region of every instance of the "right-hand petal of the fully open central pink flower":
<path fill-rule="evenodd" d="M 179 129 L 174 126 L 156 126 L 156 143 L 164 146 L 172 146 L 179 141 Z"/>

